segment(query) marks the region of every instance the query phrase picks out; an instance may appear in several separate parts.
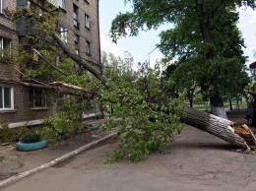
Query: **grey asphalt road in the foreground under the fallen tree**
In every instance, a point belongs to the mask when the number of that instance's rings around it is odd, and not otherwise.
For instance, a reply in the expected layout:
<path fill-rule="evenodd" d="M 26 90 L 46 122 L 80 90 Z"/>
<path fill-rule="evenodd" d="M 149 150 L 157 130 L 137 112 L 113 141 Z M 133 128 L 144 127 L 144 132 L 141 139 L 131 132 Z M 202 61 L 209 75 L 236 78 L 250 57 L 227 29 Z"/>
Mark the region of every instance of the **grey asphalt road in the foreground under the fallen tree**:
<path fill-rule="evenodd" d="M 186 126 L 170 154 L 137 163 L 104 164 L 109 140 L 58 166 L 33 174 L 2 191 L 153 191 L 256 190 L 256 156 L 239 154 L 229 144 Z"/>

